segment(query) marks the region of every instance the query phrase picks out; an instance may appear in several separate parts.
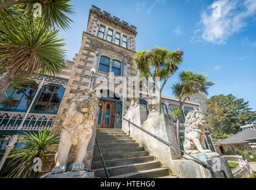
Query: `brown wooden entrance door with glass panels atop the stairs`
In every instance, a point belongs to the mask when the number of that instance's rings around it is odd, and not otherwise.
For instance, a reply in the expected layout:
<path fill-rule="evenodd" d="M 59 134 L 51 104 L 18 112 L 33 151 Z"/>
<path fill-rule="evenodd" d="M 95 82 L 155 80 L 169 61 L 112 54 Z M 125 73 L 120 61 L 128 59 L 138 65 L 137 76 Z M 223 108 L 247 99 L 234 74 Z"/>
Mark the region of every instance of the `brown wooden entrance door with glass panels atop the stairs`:
<path fill-rule="evenodd" d="M 115 102 L 100 100 L 97 128 L 114 128 Z"/>

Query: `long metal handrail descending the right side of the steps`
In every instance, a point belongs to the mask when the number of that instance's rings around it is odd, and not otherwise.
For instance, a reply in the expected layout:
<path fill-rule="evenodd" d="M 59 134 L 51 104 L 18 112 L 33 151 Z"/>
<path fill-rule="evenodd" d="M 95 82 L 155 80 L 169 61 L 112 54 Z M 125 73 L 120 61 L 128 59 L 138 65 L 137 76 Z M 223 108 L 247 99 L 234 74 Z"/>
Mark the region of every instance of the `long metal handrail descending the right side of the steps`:
<path fill-rule="evenodd" d="M 166 144 L 166 145 L 169 145 L 169 146 L 171 146 L 171 147 L 174 147 L 174 148 L 176 148 L 177 150 L 183 152 L 184 154 L 187 154 L 188 156 L 190 156 L 190 157 L 192 157 L 193 159 L 195 159 L 195 160 L 197 160 L 198 162 L 200 162 L 203 167 L 210 167 L 211 169 L 214 169 L 214 170 L 216 170 L 217 172 L 223 172 L 223 173 L 224 173 L 224 177 L 227 178 L 226 173 L 225 173 L 224 170 L 215 169 L 214 167 L 212 167 L 212 166 L 209 165 L 208 163 L 205 163 L 205 162 L 203 162 L 202 160 L 199 160 L 198 158 L 196 158 L 195 156 L 192 156 L 191 154 L 186 153 L 184 150 L 181 150 L 180 148 L 175 147 L 175 145 L 166 142 L 166 141 L 163 140 L 162 138 L 160 138 L 160 137 L 158 137 L 158 136 L 152 134 L 151 132 L 147 131 L 146 129 L 141 128 L 141 126 L 138 126 L 138 125 L 132 123 L 132 122 L 131 122 L 131 119 L 128 120 L 128 119 L 122 118 L 122 120 L 125 120 L 125 121 L 127 121 L 129 124 L 132 124 L 132 125 L 136 126 L 137 128 L 141 129 L 142 131 L 146 132 L 147 134 L 149 134 L 149 135 L 151 135 L 152 137 L 156 138 L 157 140 L 161 141 L 162 143 L 164 143 L 164 144 Z"/>

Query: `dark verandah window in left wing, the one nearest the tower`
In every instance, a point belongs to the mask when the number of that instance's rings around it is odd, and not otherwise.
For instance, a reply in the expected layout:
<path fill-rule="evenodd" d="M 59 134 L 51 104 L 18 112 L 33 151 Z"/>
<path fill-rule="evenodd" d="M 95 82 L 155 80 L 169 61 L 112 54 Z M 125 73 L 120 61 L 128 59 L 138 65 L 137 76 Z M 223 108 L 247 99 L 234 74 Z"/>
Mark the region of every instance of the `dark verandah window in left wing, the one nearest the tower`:
<path fill-rule="evenodd" d="M 50 112 L 55 114 L 64 94 L 65 88 L 61 85 L 48 84 L 45 85 L 33 106 L 33 112 Z"/>

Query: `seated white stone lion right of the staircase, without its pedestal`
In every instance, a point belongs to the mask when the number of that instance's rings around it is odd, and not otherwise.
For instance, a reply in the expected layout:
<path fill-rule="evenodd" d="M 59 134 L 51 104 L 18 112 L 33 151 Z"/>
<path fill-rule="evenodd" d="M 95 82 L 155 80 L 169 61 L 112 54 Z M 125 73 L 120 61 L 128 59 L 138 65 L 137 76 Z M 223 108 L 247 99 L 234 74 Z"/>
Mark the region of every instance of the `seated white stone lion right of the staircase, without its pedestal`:
<path fill-rule="evenodd" d="M 206 118 L 199 110 L 193 110 L 186 116 L 184 151 L 189 154 L 211 153 L 205 144 Z"/>

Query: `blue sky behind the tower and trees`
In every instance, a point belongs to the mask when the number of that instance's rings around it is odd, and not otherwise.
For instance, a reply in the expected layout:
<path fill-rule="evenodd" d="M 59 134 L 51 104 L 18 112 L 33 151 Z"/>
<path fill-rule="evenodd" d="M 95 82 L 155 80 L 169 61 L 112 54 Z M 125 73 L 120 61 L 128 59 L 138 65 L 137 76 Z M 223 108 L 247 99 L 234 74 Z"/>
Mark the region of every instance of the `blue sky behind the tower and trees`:
<path fill-rule="evenodd" d="M 87 29 L 91 5 L 137 27 L 137 51 L 155 46 L 184 50 L 178 72 L 204 72 L 216 84 L 208 97 L 232 93 L 256 110 L 255 0 L 73 0 L 72 29 L 61 31 L 72 60 Z M 172 96 L 174 75 L 164 96 Z"/>

